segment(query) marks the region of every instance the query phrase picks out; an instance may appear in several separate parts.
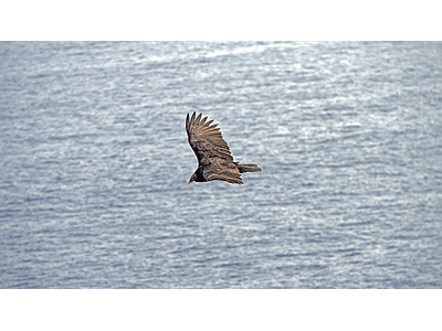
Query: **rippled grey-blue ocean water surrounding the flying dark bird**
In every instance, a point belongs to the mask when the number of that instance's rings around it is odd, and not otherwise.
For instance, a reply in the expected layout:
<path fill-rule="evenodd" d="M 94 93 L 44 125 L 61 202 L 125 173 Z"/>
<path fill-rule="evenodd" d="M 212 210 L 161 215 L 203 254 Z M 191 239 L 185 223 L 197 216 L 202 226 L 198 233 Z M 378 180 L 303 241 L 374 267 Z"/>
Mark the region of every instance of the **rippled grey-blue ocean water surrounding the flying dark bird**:
<path fill-rule="evenodd" d="M 442 288 L 441 164 L 442 42 L 0 42 L 0 288 Z"/>

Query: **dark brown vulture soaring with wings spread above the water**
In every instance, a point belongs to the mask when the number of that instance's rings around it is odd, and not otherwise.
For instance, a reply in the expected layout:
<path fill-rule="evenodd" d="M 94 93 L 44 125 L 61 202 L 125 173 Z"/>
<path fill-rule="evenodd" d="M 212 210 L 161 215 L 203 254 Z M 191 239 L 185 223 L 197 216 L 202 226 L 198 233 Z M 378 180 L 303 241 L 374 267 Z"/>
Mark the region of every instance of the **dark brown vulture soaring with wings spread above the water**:
<path fill-rule="evenodd" d="M 202 114 L 197 117 L 197 111 L 192 117 L 186 116 L 188 141 L 198 159 L 198 169 L 190 177 L 189 184 L 218 180 L 241 185 L 241 173 L 261 171 L 256 164 L 234 162 L 218 124 L 211 125 L 213 119 L 207 121 L 208 117 L 201 117 Z"/>

